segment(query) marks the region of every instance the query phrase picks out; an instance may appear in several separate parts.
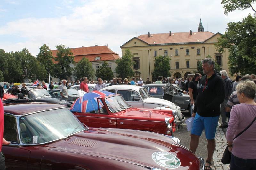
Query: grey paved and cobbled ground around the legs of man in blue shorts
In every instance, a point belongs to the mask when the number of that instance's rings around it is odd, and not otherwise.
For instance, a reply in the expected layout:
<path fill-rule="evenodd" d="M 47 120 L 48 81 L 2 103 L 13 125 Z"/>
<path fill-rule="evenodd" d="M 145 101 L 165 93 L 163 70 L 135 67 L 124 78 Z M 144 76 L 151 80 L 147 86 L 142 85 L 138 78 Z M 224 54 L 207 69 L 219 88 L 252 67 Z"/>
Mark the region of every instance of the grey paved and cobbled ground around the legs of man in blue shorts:
<path fill-rule="evenodd" d="M 183 115 L 188 119 L 190 117 L 190 114 L 188 111 L 183 111 Z M 219 125 L 221 122 L 221 117 L 219 118 Z M 216 141 L 216 150 L 213 154 L 213 170 L 228 170 L 230 164 L 223 165 L 220 160 L 222 158 L 223 152 L 226 148 L 226 129 L 221 129 L 217 127 L 216 135 L 215 135 L 215 141 Z M 183 146 L 187 147 L 189 149 L 190 144 L 190 132 L 187 131 L 187 126 L 185 123 L 180 125 L 180 129 L 174 133 L 174 136 L 176 138 L 179 138 L 181 140 L 181 143 Z M 196 156 L 200 156 L 206 160 L 207 158 L 207 140 L 205 138 L 205 132 L 203 131 L 200 140 L 199 145 L 196 150 Z"/>

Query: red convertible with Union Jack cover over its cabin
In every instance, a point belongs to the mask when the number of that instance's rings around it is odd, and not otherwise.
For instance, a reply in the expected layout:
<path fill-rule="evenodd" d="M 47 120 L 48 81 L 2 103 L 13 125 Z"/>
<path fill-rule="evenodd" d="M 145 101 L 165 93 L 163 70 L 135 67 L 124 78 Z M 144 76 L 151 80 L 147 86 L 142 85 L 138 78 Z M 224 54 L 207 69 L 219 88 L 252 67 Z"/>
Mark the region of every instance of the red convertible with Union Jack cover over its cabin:
<path fill-rule="evenodd" d="M 151 131 L 173 136 L 176 110 L 132 108 L 120 94 L 93 91 L 76 100 L 70 110 L 89 127 Z"/>

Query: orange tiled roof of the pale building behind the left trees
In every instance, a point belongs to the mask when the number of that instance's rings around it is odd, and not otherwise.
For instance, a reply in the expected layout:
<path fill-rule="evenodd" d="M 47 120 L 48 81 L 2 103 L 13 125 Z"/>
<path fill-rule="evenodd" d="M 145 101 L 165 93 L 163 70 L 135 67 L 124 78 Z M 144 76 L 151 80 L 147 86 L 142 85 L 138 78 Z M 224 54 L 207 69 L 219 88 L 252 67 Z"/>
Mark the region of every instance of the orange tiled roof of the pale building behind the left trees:
<path fill-rule="evenodd" d="M 90 46 L 70 48 L 74 56 L 74 61 L 78 62 L 82 57 L 86 57 L 89 61 L 95 61 L 95 57 L 101 57 L 100 61 L 117 60 L 120 58 L 117 53 L 113 52 L 107 46 Z M 58 50 L 51 50 L 53 57 L 57 57 Z"/>

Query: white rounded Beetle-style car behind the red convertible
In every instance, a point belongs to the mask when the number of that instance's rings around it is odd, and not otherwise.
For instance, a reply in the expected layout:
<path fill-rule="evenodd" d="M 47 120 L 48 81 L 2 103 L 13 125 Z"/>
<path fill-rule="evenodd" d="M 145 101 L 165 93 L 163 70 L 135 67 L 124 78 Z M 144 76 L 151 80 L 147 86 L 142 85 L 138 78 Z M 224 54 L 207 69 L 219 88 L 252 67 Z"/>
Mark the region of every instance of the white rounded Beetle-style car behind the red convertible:
<path fill-rule="evenodd" d="M 179 125 L 184 122 L 185 117 L 181 113 L 180 107 L 174 103 L 151 97 L 147 89 L 141 86 L 133 85 L 113 85 L 108 86 L 100 91 L 108 91 L 115 94 L 121 94 L 124 100 L 135 108 L 151 108 L 151 109 L 160 109 L 162 110 L 176 110 L 177 114 L 173 115 L 175 117 L 176 123 Z"/>

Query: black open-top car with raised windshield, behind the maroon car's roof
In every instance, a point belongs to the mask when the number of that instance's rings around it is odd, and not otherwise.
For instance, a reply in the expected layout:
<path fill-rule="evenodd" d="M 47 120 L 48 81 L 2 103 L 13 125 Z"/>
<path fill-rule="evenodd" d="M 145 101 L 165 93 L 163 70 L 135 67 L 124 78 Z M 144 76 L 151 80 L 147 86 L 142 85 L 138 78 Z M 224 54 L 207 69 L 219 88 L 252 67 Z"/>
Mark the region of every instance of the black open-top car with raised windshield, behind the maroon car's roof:
<path fill-rule="evenodd" d="M 59 100 L 52 98 L 47 90 L 45 89 L 34 89 L 28 91 L 28 97 L 23 97 L 22 93 L 18 94 L 18 99 L 8 99 L 3 101 L 3 103 L 24 103 L 24 102 L 46 102 L 46 103 L 56 103 L 71 107 L 71 103 L 65 100 Z"/>

